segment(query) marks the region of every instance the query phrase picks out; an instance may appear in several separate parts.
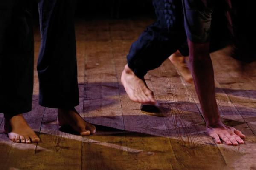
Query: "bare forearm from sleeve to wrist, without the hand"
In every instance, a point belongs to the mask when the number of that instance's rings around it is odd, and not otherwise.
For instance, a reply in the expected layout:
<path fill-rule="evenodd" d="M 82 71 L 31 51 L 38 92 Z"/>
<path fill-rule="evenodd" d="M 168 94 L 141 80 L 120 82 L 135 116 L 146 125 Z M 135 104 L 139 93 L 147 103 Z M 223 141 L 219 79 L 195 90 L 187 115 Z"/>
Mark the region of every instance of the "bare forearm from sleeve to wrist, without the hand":
<path fill-rule="evenodd" d="M 215 99 L 215 85 L 209 44 L 189 42 L 189 62 L 195 82 L 195 89 L 201 104 L 207 126 L 220 123 L 220 115 Z"/>

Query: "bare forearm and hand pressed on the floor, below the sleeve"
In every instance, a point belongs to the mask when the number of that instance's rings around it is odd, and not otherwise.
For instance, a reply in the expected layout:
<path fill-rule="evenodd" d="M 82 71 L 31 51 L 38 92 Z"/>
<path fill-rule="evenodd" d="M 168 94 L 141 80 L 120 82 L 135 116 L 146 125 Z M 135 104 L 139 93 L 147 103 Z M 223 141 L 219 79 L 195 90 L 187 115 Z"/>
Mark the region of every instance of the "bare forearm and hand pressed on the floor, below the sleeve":
<path fill-rule="evenodd" d="M 212 61 L 209 56 L 209 44 L 195 44 L 188 40 L 189 61 L 195 82 L 195 89 L 207 125 L 207 133 L 217 143 L 222 139 L 228 145 L 244 144 L 245 136 L 234 127 L 221 122 L 215 99 L 215 85 Z"/>

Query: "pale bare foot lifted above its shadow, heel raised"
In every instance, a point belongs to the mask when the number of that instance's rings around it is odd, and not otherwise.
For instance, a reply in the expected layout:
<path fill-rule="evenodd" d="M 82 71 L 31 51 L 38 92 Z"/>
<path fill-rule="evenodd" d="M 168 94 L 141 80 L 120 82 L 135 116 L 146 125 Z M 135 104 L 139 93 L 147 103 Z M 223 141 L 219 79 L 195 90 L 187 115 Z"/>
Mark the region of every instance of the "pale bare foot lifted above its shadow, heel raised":
<path fill-rule="evenodd" d="M 144 79 L 140 79 L 134 74 L 128 65 L 125 65 L 125 69 L 122 72 L 121 82 L 132 101 L 156 105 L 153 91 L 148 88 Z"/>

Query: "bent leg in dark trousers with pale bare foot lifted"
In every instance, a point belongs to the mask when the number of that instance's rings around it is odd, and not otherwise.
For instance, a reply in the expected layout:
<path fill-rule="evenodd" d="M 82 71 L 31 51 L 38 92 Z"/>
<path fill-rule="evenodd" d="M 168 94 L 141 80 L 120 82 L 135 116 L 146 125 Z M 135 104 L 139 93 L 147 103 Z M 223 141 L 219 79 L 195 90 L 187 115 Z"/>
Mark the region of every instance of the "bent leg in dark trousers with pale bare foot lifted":
<path fill-rule="evenodd" d="M 128 64 L 121 81 L 134 102 L 155 104 L 154 94 L 147 87 L 144 76 L 159 67 L 186 40 L 180 0 L 154 0 L 157 22 L 148 26 L 131 45 Z"/>

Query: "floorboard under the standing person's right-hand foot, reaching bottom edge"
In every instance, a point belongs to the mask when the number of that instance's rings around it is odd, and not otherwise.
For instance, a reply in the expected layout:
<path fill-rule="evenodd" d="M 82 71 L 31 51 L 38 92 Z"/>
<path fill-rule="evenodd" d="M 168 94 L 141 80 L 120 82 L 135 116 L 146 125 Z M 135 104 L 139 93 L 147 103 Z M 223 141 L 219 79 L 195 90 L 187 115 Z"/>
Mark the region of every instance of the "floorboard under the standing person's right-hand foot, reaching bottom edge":
<path fill-rule="evenodd" d="M 79 114 L 83 112 L 83 98 L 76 107 Z M 46 108 L 42 122 L 40 138 L 33 167 L 44 169 L 81 169 L 82 137 L 60 129 L 57 123 L 58 109 Z M 50 161 L 49 161 L 50 160 Z M 60 166 L 61 165 L 61 166 Z"/>

